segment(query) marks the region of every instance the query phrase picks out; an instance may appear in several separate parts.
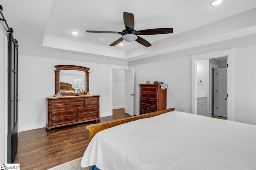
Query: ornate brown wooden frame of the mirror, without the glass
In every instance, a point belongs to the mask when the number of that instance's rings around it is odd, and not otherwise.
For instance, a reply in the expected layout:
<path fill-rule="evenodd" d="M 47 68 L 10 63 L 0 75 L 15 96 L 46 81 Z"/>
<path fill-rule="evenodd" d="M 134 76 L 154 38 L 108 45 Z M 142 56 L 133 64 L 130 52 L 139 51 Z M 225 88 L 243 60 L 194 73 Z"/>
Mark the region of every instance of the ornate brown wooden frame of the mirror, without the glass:
<path fill-rule="evenodd" d="M 60 92 L 60 71 L 61 70 L 78 70 L 78 71 L 82 71 L 85 73 L 85 95 L 87 94 L 87 92 L 89 92 L 89 70 L 90 68 L 86 68 L 83 66 L 74 66 L 74 65 L 57 65 L 55 66 L 56 70 L 55 70 L 55 94 L 57 94 L 58 92 Z M 70 88 L 72 88 L 72 84 L 68 84 L 66 82 L 62 82 L 63 86 L 69 86 Z M 73 89 L 73 88 L 72 88 Z M 70 89 L 71 90 L 71 89 Z M 62 93 L 62 96 L 74 96 L 75 93 L 72 92 L 65 92 Z M 84 92 L 78 92 L 79 95 L 84 94 Z"/>

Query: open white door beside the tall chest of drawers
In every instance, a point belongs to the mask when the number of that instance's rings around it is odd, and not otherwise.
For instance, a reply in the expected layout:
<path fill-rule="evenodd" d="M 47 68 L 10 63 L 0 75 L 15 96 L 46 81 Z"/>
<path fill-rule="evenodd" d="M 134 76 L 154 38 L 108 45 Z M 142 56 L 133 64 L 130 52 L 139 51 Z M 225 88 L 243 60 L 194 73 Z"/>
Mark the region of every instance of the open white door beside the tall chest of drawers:
<path fill-rule="evenodd" d="M 125 113 L 133 116 L 134 109 L 134 77 L 133 68 L 125 70 Z"/>

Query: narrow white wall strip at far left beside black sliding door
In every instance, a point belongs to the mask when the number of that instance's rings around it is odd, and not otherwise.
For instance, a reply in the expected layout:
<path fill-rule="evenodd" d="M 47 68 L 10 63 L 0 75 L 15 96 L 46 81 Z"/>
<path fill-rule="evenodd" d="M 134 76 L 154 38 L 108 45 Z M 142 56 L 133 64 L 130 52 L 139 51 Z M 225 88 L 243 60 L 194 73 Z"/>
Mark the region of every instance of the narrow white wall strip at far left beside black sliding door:
<path fill-rule="evenodd" d="M 7 162 L 7 33 L 0 22 L 0 163 Z"/>

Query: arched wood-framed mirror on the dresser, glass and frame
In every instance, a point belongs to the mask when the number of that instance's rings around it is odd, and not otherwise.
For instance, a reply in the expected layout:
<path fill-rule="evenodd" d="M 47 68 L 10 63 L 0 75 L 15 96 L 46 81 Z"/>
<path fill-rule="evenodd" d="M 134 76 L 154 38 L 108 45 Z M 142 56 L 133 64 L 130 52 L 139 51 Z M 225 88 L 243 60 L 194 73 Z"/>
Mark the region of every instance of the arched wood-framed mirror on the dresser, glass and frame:
<path fill-rule="evenodd" d="M 55 66 L 55 94 L 60 92 L 62 96 L 73 96 L 89 92 L 90 68 L 73 65 Z"/>

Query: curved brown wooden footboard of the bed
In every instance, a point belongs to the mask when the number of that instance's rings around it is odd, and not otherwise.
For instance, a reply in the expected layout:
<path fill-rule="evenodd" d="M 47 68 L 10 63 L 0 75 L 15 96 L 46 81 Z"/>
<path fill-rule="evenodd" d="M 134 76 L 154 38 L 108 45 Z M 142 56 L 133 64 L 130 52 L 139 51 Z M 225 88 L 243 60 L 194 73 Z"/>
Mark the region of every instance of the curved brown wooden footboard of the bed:
<path fill-rule="evenodd" d="M 144 118 L 148 118 L 148 117 L 157 116 L 157 115 L 169 112 L 169 111 L 174 111 L 174 109 L 175 108 L 169 108 L 169 109 L 154 111 L 154 112 L 151 112 L 151 113 L 146 113 L 146 114 L 143 114 L 143 115 L 136 115 L 136 116 L 132 116 L 132 117 L 127 117 L 127 118 L 122 118 L 122 119 L 117 119 L 117 120 L 112 120 L 112 121 L 87 125 L 86 129 L 89 130 L 89 134 L 90 134 L 89 135 L 89 140 L 91 141 L 96 133 L 98 133 L 99 131 L 102 131 L 104 129 L 108 129 L 108 128 L 114 127 L 116 125 L 121 125 L 123 123 L 127 123 L 127 122 L 130 122 L 130 121 L 135 121 L 135 120 L 138 120 L 138 119 L 144 119 Z"/>

